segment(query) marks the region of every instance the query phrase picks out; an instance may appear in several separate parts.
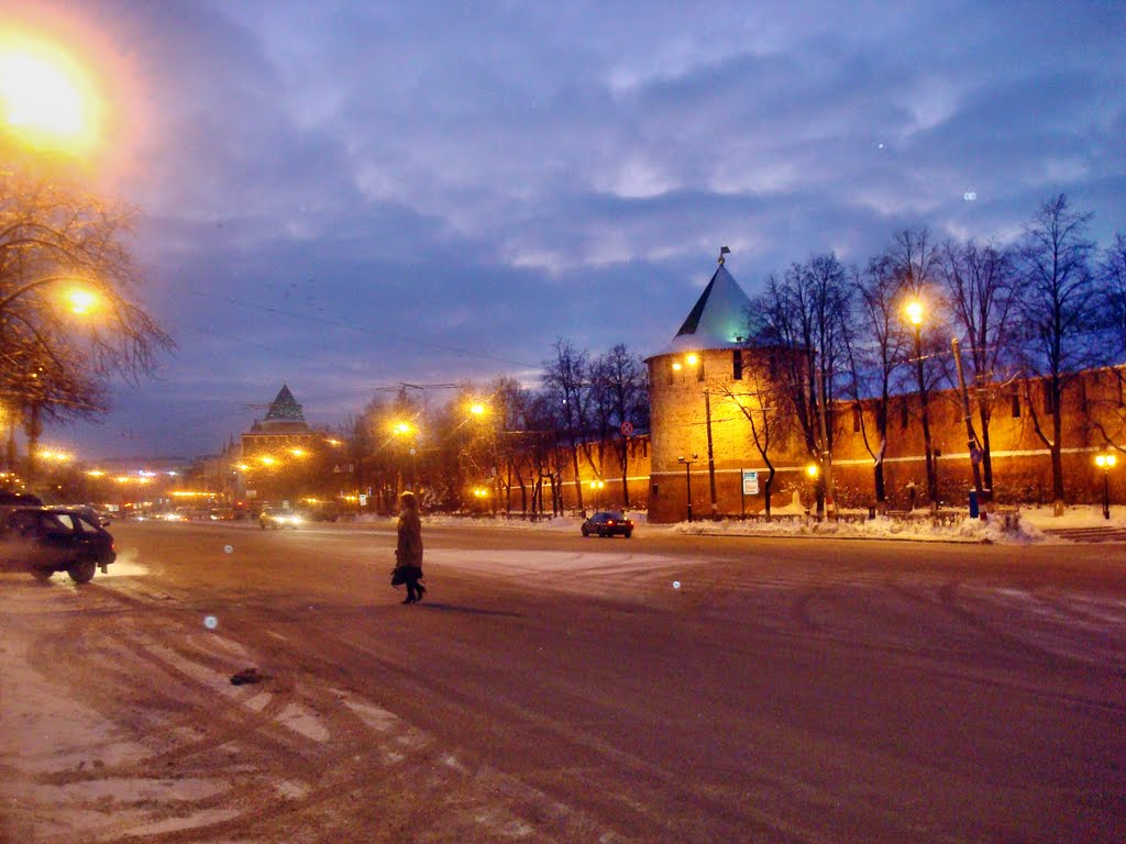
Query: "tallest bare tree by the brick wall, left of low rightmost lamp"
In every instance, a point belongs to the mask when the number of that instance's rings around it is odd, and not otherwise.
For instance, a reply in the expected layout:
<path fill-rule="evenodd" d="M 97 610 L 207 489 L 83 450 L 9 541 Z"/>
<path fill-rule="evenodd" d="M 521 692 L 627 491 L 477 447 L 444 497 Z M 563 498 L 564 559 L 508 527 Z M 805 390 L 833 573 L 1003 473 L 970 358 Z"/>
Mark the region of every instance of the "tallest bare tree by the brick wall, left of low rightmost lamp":
<path fill-rule="evenodd" d="M 1098 289 L 1091 270 L 1090 214 L 1071 209 L 1063 194 L 1045 201 L 1025 230 L 1020 250 L 1025 394 L 1036 436 L 1052 457 L 1052 496 L 1063 511 L 1063 395 L 1081 370 L 1102 356 L 1092 342 Z M 1043 390 L 1036 402 L 1033 385 Z M 1047 416 L 1045 430 L 1043 416 Z"/>

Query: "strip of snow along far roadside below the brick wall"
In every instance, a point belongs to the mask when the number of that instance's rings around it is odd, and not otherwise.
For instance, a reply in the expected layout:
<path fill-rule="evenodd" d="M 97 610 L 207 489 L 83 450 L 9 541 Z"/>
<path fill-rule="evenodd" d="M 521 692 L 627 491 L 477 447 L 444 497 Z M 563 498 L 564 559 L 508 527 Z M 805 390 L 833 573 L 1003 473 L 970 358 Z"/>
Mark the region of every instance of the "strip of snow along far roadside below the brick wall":
<path fill-rule="evenodd" d="M 1010 511 L 1011 512 L 1011 511 Z M 783 521 L 711 521 L 707 519 L 676 524 L 649 524 L 644 512 L 629 512 L 637 523 L 638 535 L 688 533 L 697 536 L 761 536 L 761 537 L 833 537 L 840 539 L 894 539 L 929 542 L 995 542 L 999 545 L 1029 545 L 1033 542 L 1067 542 L 1069 540 L 1045 533 L 1048 529 L 1061 528 L 1117 528 L 1126 529 L 1126 508 L 1111 508 L 1110 519 L 1102 518 L 1101 506 L 1071 506 L 1063 515 L 1053 515 L 1051 506 L 1020 508 L 1019 520 L 1013 529 L 1006 529 L 1003 518 L 988 521 L 971 519 L 968 515 L 955 523 L 933 524 L 921 512 L 911 519 L 877 518 L 861 519 L 863 512 L 847 512 L 856 521 L 817 522 L 805 517 L 805 510 L 795 504 L 774 508 L 772 514 L 793 517 Z M 394 523 L 394 519 L 379 517 L 372 521 Z M 471 519 L 453 515 L 429 515 L 428 524 L 489 527 L 506 530 L 560 531 L 578 533 L 582 519 L 556 517 L 540 521 L 524 519 Z M 1011 520 L 1010 520 L 1011 521 Z"/>

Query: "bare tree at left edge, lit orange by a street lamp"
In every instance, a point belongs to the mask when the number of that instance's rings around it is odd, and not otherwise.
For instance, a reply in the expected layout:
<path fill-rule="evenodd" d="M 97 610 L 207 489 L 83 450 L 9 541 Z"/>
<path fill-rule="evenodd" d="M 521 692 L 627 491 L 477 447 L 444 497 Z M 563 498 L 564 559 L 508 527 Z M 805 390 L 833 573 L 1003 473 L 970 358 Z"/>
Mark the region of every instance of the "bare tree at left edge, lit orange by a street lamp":
<path fill-rule="evenodd" d="M 172 348 L 135 299 L 131 221 L 128 209 L 60 178 L 0 172 L 0 392 L 29 421 L 104 413 L 110 377 L 151 375 Z M 68 309 L 92 318 L 71 320 Z M 29 372 L 41 379 L 34 389 Z"/>

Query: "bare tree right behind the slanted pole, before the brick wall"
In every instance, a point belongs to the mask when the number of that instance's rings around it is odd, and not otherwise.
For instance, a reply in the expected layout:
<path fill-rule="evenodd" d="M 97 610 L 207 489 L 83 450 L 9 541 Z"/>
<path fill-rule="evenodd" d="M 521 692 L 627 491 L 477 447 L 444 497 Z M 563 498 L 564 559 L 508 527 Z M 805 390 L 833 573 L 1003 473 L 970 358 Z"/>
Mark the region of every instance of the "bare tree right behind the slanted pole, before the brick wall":
<path fill-rule="evenodd" d="M 1017 267 L 1011 251 L 974 241 L 947 243 L 941 276 L 957 329 L 965 335 L 977 419 L 982 431 L 982 473 L 993 490 L 990 421 L 1000 390 L 1011 383 L 1017 316 Z"/>

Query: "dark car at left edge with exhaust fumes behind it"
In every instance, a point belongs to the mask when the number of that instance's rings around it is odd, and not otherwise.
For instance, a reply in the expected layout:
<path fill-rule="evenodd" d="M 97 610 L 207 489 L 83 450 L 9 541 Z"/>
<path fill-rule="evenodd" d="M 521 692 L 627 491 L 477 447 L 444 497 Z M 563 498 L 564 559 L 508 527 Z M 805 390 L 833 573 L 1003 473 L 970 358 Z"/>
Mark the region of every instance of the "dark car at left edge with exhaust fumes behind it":
<path fill-rule="evenodd" d="M 114 537 L 75 508 L 16 508 L 0 526 L 0 558 L 39 580 L 66 572 L 74 583 L 89 583 L 117 559 Z"/>

